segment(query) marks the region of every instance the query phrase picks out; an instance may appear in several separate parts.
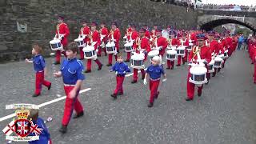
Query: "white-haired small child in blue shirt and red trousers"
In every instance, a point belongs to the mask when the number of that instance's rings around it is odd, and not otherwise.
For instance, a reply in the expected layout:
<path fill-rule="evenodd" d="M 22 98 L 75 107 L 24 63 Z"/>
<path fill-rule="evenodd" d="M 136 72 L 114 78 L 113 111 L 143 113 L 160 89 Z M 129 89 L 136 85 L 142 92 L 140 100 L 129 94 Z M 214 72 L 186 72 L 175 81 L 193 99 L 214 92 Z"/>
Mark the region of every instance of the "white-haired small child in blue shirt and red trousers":
<path fill-rule="evenodd" d="M 154 56 L 151 60 L 151 65 L 146 69 L 146 75 L 144 79 L 144 85 L 146 85 L 146 77 L 150 75 L 150 103 L 148 107 L 154 105 L 154 98 L 158 98 L 158 86 L 161 78 L 161 74 L 164 76 L 162 82 L 166 82 L 166 74 L 163 70 L 161 59 L 159 56 Z"/>

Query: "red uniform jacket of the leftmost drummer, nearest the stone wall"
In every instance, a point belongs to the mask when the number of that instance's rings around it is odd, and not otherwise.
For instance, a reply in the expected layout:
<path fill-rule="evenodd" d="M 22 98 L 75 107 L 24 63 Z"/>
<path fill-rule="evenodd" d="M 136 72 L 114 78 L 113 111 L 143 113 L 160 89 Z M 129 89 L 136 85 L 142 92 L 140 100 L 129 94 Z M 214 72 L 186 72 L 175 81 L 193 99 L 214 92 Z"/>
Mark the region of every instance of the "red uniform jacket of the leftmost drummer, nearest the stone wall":
<path fill-rule="evenodd" d="M 57 25 L 57 30 L 56 30 L 57 38 L 58 34 L 64 34 L 64 38 L 62 39 L 62 45 L 67 46 L 67 37 L 70 35 L 70 30 L 69 27 L 66 25 L 66 23 L 61 23 Z"/>

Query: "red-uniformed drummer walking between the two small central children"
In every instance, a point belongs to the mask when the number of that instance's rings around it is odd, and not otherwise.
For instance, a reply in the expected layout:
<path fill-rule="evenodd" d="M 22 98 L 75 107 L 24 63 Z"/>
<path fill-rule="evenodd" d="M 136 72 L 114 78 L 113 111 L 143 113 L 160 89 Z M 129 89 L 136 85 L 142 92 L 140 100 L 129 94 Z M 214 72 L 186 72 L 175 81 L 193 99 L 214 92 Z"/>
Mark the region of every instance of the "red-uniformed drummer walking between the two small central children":
<path fill-rule="evenodd" d="M 142 28 L 141 30 L 139 30 L 139 37 L 136 39 L 135 46 L 134 46 L 134 53 L 140 54 L 140 52 L 143 50 L 142 53 L 145 54 L 144 61 L 146 61 L 147 53 L 150 52 L 150 42 L 149 42 L 149 39 L 145 37 L 145 33 L 146 33 L 146 29 Z M 142 72 L 142 79 L 144 79 L 145 70 L 142 69 L 141 72 Z M 137 80 L 138 80 L 138 69 L 134 68 L 134 78 L 131 83 L 136 83 Z"/>

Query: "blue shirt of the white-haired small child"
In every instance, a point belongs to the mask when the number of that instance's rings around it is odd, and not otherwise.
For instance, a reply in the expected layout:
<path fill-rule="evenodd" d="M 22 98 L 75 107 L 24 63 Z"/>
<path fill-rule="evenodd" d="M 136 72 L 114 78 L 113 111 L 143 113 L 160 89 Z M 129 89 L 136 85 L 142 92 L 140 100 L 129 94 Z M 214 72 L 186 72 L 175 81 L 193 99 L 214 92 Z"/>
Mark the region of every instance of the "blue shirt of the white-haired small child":
<path fill-rule="evenodd" d="M 150 75 L 151 79 L 158 79 L 161 78 L 161 74 L 165 74 L 165 71 L 163 70 L 162 66 L 153 66 L 150 65 L 147 69 L 146 69 L 146 73 Z"/>

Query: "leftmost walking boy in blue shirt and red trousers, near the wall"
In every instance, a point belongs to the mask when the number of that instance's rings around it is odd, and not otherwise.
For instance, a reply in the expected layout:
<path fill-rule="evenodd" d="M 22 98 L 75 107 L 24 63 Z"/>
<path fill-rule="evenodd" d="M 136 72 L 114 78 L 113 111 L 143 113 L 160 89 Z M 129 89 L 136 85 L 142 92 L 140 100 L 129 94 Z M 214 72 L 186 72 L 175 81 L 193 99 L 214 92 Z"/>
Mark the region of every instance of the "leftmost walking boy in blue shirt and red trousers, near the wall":
<path fill-rule="evenodd" d="M 26 58 L 26 62 L 33 63 L 35 73 L 35 92 L 33 97 L 37 97 L 41 94 L 42 85 L 46 86 L 50 90 L 51 83 L 45 80 L 46 75 L 46 62 L 41 55 L 42 47 L 35 44 L 32 48 L 32 54 L 34 57 L 30 61 Z"/>

